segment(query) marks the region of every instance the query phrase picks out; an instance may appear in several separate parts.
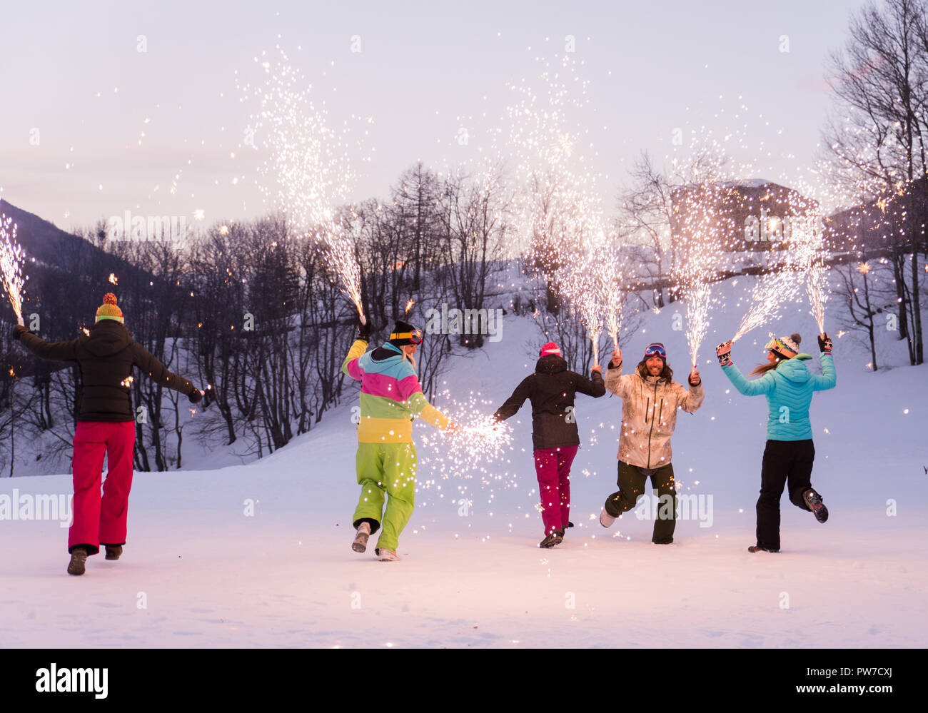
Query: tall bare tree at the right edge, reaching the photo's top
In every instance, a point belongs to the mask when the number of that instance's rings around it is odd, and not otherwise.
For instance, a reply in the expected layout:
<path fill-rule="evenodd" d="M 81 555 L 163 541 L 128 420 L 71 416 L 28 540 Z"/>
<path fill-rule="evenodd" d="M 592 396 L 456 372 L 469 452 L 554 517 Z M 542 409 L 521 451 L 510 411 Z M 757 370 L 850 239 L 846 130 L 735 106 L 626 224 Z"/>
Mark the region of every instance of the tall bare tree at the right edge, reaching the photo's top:
<path fill-rule="evenodd" d="M 908 339 L 913 365 L 923 361 L 918 246 L 928 197 L 922 134 L 928 100 L 925 12 L 923 0 L 884 0 L 852 17 L 851 36 L 843 51 L 832 54 L 828 70 L 848 119 L 832 120 L 824 132 L 838 175 L 853 187 L 852 194 L 881 201 L 881 207 L 890 200 L 898 206 L 885 220 L 884 234 L 895 272 L 899 337 Z"/>

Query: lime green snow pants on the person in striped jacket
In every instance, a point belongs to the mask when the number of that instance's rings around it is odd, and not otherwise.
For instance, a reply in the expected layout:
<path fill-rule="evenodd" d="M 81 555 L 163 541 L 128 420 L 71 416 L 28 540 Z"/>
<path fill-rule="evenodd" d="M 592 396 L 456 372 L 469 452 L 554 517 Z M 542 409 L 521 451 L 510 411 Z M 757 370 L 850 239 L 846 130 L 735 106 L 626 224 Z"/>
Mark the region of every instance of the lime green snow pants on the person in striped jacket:
<path fill-rule="evenodd" d="M 396 551 L 415 508 L 416 447 L 411 443 L 359 443 L 356 461 L 361 497 L 354 509 L 354 527 L 367 521 L 373 534 L 382 522 L 377 548 Z M 384 495 L 388 496 L 386 512 Z"/>

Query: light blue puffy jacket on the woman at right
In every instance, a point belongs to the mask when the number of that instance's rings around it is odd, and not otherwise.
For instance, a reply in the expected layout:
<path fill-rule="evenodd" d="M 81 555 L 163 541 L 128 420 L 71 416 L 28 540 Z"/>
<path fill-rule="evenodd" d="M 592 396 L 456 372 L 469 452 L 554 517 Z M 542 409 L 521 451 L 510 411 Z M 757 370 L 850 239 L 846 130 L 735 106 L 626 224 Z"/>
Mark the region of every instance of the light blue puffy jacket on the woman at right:
<path fill-rule="evenodd" d="M 803 364 L 812 357 L 797 354 L 783 359 L 776 369 L 770 369 L 760 379 L 748 381 L 734 364 L 722 367 L 728 380 L 746 396 L 767 396 L 767 439 L 771 441 L 805 441 L 812 437 L 809 404 L 812 394 L 834 388 L 837 375 L 830 354 L 821 355 L 821 376 L 813 374 Z"/>

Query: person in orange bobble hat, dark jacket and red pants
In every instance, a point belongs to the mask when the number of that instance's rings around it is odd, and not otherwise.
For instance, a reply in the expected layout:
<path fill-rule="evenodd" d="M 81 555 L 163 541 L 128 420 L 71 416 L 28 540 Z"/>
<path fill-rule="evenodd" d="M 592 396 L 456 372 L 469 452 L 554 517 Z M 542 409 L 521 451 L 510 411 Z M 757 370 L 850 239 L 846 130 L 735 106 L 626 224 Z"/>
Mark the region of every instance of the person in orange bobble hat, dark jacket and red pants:
<path fill-rule="evenodd" d="M 107 549 L 108 560 L 118 560 L 125 544 L 135 447 L 135 410 L 129 393 L 133 367 L 162 386 L 186 394 L 194 404 L 203 392 L 165 369 L 141 344 L 135 344 L 123 326 L 122 310 L 112 292 L 104 296 L 86 336 L 49 344 L 21 325 L 13 328 L 13 336 L 36 356 L 76 361 L 81 369 L 71 460 L 74 519 L 68 533 L 68 573 L 83 575 L 87 556 L 97 554 L 101 544 Z M 104 455 L 109 467 L 101 498 Z"/>

